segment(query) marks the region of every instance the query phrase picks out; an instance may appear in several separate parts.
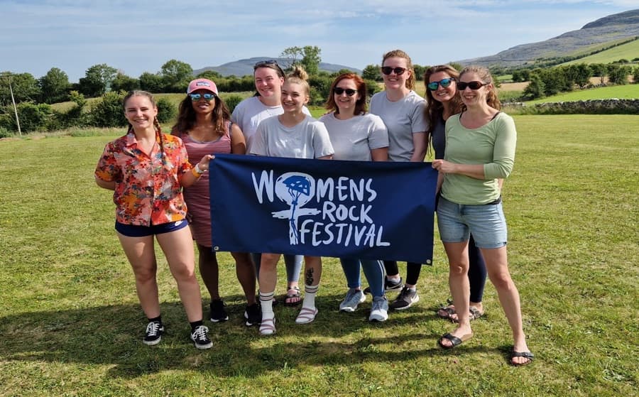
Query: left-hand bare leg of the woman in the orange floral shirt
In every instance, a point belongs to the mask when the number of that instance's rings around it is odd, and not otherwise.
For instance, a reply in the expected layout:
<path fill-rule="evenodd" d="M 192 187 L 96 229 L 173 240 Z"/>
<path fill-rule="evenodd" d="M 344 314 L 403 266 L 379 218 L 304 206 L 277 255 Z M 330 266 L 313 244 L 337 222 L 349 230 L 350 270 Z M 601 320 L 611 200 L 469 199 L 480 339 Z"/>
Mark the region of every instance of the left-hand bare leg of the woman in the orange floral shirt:
<path fill-rule="evenodd" d="M 155 318 L 160 315 L 160 299 L 158 298 L 158 282 L 155 275 L 158 263 L 155 261 L 153 236 L 128 237 L 118 233 L 118 239 L 126 258 L 131 263 L 136 278 L 136 291 L 140 305 L 146 317 Z"/>

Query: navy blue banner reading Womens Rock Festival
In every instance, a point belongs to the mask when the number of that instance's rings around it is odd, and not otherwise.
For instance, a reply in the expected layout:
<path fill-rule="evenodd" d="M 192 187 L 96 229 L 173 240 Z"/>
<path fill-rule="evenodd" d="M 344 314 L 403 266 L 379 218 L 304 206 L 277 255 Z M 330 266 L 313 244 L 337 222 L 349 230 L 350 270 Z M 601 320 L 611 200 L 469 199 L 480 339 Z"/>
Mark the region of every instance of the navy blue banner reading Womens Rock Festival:
<path fill-rule="evenodd" d="M 430 163 L 217 154 L 209 178 L 215 251 L 432 262 Z"/>

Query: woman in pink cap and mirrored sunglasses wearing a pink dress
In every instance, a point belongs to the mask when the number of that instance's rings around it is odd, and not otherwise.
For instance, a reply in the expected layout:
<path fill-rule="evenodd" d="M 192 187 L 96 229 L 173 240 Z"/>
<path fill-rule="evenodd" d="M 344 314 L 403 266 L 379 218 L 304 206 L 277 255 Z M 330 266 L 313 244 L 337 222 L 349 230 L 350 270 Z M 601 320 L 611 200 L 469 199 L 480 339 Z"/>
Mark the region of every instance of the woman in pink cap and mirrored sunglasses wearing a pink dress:
<path fill-rule="evenodd" d="M 189 83 L 187 96 L 180 103 L 178 121 L 171 134 L 182 138 L 192 163 L 209 154 L 246 153 L 244 135 L 239 126 L 231 123 L 231 112 L 218 96 L 217 87 L 211 80 L 197 79 Z M 219 296 L 219 265 L 211 248 L 208 175 L 185 189 L 184 198 L 193 237 L 200 252 L 200 274 L 211 295 L 210 319 L 212 322 L 224 322 L 229 320 L 229 316 Z M 240 252 L 231 252 L 231 255 L 235 259 L 237 278 L 246 295 L 246 325 L 259 324 L 261 311 L 256 303 L 256 276 L 251 257 Z"/>

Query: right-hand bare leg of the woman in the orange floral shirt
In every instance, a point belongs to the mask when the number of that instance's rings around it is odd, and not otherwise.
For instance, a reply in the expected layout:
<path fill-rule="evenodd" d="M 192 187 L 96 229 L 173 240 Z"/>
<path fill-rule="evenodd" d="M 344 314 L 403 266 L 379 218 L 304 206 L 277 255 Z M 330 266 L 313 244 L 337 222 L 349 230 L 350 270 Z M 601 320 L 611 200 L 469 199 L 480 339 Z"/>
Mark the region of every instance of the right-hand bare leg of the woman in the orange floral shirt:
<path fill-rule="evenodd" d="M 166 256 L 189 322 L 202 320 L 202 294 L 195 278 L 195 251 L 188 227 L 155 236 Z"/>

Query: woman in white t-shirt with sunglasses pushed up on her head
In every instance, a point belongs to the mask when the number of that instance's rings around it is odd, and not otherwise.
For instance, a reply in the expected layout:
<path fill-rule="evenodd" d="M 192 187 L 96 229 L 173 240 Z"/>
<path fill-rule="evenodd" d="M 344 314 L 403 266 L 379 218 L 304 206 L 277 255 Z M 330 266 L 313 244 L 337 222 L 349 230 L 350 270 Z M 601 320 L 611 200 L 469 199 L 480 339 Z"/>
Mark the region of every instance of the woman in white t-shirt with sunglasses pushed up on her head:
<path fill-rule="evenodd" d="M 285 75 L 282 68 L 275 60 L 263 60 L 253 66 L 253 79 L 255 80 L 256 94 L 253 97 L 240 102 L 231 114 L 231 121 L 237 124 L 246 138 L 246 146 L 250 146 L 251 140 L 257 131 L 258 125 L 264 119 L 283 114 L 282 109 L 282 85 Z M 302 108 L 305 114 L 310 116 L 306 107 Z M 260 273 L 260 254 L 251 254 L 256 272 Z M 285 305 L 299 305 L 302 301 L 300 294 L 300 271 L 302 271 L 301 255 L 284 255 L 286 276 L 288 280 Z"/>

